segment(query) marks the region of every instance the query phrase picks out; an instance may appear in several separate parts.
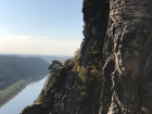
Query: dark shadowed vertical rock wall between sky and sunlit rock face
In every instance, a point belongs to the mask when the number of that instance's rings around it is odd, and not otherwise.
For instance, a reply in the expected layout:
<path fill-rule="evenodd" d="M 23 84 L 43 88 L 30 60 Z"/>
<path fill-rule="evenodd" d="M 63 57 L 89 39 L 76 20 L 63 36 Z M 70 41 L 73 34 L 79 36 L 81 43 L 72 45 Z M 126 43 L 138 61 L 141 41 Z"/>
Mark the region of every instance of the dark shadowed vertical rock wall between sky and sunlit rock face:
<path fill-rule="evenodd" d="M 84 39 L 80 47 L 80 54 L 77 59 L 80 61 L 81 66 L 87 66 L 89 63 L 89 55 L 87 49 L 96 40 L 104 40 L 107 24 L 110 5 L 107 0 L 84 0 Z M 101 50 L 102 51 L 102 50 Z"/>

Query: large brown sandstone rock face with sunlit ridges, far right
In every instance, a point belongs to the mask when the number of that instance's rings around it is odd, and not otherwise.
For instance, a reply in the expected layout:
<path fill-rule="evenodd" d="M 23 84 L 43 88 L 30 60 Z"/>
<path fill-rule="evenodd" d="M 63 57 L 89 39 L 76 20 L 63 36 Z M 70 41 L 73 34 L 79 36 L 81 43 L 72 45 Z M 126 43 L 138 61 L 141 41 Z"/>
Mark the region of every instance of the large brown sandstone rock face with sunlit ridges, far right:
<path fill-rule="evenodd" d="M 110 10 L 100 114 L 151 114 L 152 1 L 110 0 Z"/>

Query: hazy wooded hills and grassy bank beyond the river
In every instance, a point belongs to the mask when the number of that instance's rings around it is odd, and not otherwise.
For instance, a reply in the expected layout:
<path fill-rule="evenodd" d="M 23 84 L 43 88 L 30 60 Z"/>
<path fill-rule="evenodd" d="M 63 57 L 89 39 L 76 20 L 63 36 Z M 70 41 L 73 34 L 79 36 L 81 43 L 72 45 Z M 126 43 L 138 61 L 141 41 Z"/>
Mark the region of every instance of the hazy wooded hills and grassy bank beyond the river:
<path fill-rule="evenodd" d="M 16 96 L 31 80 L 49 74 L 53 60 L 64 62 L 71 56 L 0 54 L 0 106 Z"/>

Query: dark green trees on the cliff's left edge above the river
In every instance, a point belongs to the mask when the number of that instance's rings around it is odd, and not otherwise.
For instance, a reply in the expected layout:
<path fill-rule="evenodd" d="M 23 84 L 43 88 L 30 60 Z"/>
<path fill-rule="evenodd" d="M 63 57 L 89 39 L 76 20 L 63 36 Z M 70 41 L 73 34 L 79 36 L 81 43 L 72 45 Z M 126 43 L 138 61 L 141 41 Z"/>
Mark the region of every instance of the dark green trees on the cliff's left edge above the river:
<path fill-rule="evenodd" d="M 40 96 L 37 99 L 37 103 L 43 103 L 47 101 L 46 90 L 51 89 L 52 93 L 55 93 L 60 90 L 60 85 L 65 83 L 65 76 L 62 74 L 62 69 L 65 65 L 72 65 L 73 59 L 66 60 L 64 65 L 60 61 L 52 61 L 49 65 L 50 76 L 47 80 L 46 88 L 41 91 Z M 66 71 L 69 72 L 69 71 Z M 68 74 L 68 73 L 67 73 Z"/>

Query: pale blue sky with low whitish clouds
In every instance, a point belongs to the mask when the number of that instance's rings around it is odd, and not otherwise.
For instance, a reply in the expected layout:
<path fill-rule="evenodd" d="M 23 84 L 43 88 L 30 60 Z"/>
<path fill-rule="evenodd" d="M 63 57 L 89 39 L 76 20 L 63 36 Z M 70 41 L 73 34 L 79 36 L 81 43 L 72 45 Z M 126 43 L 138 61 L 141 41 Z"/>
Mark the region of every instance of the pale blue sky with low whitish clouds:
<path fill-rule="evenodd" d="M 73 55 L 83 0 L 0 0 L 0 53 Z"/>

